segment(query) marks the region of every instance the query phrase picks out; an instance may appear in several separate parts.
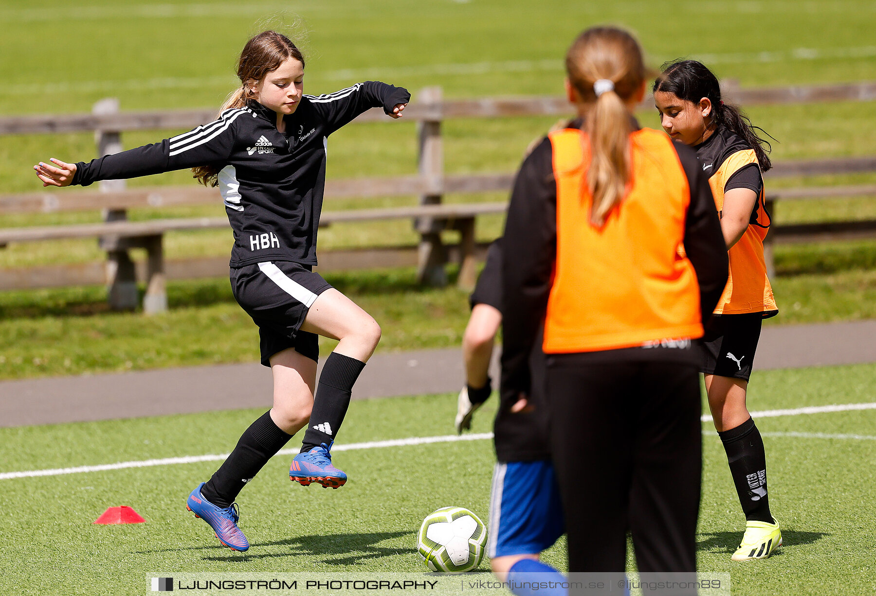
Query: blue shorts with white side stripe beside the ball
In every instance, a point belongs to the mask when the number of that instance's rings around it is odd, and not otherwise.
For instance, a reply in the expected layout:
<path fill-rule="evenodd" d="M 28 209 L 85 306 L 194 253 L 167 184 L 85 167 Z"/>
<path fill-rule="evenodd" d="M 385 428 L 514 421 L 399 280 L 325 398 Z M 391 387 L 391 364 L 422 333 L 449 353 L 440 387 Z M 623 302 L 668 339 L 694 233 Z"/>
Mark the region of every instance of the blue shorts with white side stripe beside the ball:
<path fill-rule="evenodd" d="M 496 464 L 487 543 L 491 558 L 538 554 L 562 536 L 565 525 L 549 459 Z"/>

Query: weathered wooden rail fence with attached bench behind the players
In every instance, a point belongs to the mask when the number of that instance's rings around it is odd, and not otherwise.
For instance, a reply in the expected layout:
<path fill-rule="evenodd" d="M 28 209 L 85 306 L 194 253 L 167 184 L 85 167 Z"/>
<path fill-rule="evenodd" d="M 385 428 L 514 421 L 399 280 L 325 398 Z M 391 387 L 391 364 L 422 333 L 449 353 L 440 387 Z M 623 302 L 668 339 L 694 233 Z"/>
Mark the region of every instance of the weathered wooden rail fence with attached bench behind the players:
<path fill-rule="evenodd" d="M 850 85 L 816 85 L 790 88 L 741 89 L 731 85 L 725 88 L 726 97 L 743 105 L 817 102 L 817 101 L 872 101 L 876 99 L 876 83 L 862 82 Z M 649 100 L 643 104 L 650 107 Z M 507 191 L 512 186 L 513 174 L 479 173 L 470 175 L 447 175 L 444 173 L 442 121 L 449 117 L 502 117 L 502 116 L 568 116 L 569 103 L 562 97 L 509 97 L 479 100 L 443 101 L 440 88 L 424 89 L 406 109 L 406 119 L 413 119 L 418 126 L 419 172 L 414 176 L 393 178 L 329 180 L 326 184 L 326 203 L 332 198 L 343 197 L 391 197 L 419 196 L 419 207 L 394 209 L 367 209 L 351 212 L 329 211 L 322 214 L 321 222 L 329 225 L 334 221 L 369 221 L 381 219 L 413 218 L 414 228 L 420 234 L 416 248 L 418 278 L 428 284 L 442 284 L 445 280 L 444 263 L 454 252 L 454 247 L 442 246 L 442 231 L 457 229 L 462 242 L 456 249 L 463 269 L 460 284 L 470 287 L 474 283 L 474 269 L 470 261 L 473 249 L 475 217 L 478 214 L 500 213 L 504 204 L 487 203 L 468 206 L 441 205 L 446 193 L 483 193 Z M 11 116 L 0 118 L 0 135 L 51 134 L 59 132 L 95 131 L 97 153 L 105 155 L 122 150 L 123 130 L 191 129 L 214 117 L 212 109 L 180 110 L 168 112 L 120 113 L 116 100 L 103 100 L 95 104 L 91 115 L 67 116 Z M 379 109 L 372 109 L 357 118 L 356 122 L 385 121 Z M 851 172 L 876 172 L 876 157 L 817 159 L 776 164 L 767 172 L 767 200 L 774 212 L 777 200 L 807 200 L 816 198 L 840 198 L 849 196 L 876 196 L 876 186 L 829 186 L 772 191 L 769 179 L 788 176 L 812 176 Z M 137 305 L 136 263 L 128 256 L 128 249 L 146 249 L 148 258 L 145 278 L 147 293 L 144 303 L 146 312 L 159 312 L 166 307 L 164 271 L 166 263 L 162 254 L 162 236 L 172 230 L 225 228 L 224 218 L 187 218 L 156 221 L 126 221 L 126 210 L 134 207 L 178 207 L 220 204 L 218 192 L 200 186 L 161 187 L 152 189 L 127 189 L 124 180 L 107 180 L 99 190 L 60 193 L 26 193 L 0 196 L 0 214 L 54 213 L 100 209 L 104 222 L 52 228 L 7 228 L 0 229 L 0 246 L 7 242 L 36 242 L 60 238 L 96 237 L 102 249 L 107 251 L 105 278 L 109 286 L 109 302 L 117 308 Z M 487 207 L 490 206 L 490 207 Z M 438 209 L 437 207 L 447 207 Z M 813 242 L 847 238 L 872 237 L 876 235 L 876 221 L 844 221 L 775 226 L 767 236 L 767 263 L 772 268 L 774 242 Z M 477 246 L 476 246 L 477 249 Z M 370 249 L 371 257 L 357 259 L 359 263 L 384 263 L 385 256 L 397 255 L 403 249 Z M 410 251 L 410 248 L 406 250 Z M 335 251 L 340 253 L 342 251 Z M 365 251 L 360 251 L 364 253 Z M 350 256 L 346 251 L 344 256 Z M 333 261 L 321 252 L 321 261 Z M 407 258 L 407 257 L 405 257 Z M 209 265 L 188 265 L 190 271 L 218 271 L 221 259 L 205 259 Z M 392 261 L 398 263 L 399 259 Z M 23 280 L 28 270 L 0 270 L 0 290 L 20 287 L 46 287 L 58 285 L 59 277 L 76 283 L 77 271 L 93 269 L 94 264 L 71 265 L 67 270 L 60 267 L 34 268 L 37 272 L 32 281 Z M 77 269 L 78 268 L 78 269 Z M 89 270 L 88 279 L 95 279 Z M 178 277 L 185 271 L 180 270 Z M 6 280 L 4 282 L 4 280 Z M 33 281 L 35 280 L 35 281 Z M 83 283 L 83 282 L 80 282 Z"/>

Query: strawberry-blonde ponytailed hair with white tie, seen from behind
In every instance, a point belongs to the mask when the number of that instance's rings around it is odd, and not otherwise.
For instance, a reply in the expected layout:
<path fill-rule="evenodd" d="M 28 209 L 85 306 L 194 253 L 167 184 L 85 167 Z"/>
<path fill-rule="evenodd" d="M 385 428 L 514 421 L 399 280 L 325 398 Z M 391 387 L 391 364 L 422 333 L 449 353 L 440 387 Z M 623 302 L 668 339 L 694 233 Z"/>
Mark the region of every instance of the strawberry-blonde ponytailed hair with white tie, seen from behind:
<path fill-rule="evenodd" d="M 566 70 L 586 114 L 582 142 L 590 167 L 582 200 L 592 199 L 590 223 L 602 227 L 624 199 L 631 178 L 632 116 L 626 103 L 645 81 L 645 64 L 639 43 L 628 32 L 593 27 L 569 48 Z"/>

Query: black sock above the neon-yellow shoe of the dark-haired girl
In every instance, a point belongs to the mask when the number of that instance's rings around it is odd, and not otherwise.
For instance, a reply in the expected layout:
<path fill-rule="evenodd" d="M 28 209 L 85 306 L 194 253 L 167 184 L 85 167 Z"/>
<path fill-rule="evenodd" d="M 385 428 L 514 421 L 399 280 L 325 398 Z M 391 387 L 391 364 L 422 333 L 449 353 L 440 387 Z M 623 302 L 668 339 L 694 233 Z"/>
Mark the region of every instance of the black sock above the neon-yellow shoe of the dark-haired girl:
<path fill-rule="evenodd" d="M 769 512 L 767 497 L 767 455 L 764 442 L 760 438 L 754 420 L 748 418 L 744 423 L 729 431 L 718 432 L 724 443 L 730 473 L 745 520 L 748 522 L 775 523 Z"/>

